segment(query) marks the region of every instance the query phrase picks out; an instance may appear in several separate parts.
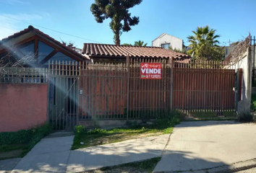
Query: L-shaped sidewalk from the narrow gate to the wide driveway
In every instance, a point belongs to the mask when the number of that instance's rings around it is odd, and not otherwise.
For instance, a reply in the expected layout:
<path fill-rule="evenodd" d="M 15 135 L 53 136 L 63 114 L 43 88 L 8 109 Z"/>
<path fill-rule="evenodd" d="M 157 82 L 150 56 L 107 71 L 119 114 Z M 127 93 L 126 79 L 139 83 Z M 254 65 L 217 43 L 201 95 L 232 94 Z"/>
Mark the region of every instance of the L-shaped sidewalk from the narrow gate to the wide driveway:
<path fill-rule="evenodd" d="M 161 156 L 170 134 L 70 151 L 74 136 L 43 138 L 12 173 L 84 172 Z"/>

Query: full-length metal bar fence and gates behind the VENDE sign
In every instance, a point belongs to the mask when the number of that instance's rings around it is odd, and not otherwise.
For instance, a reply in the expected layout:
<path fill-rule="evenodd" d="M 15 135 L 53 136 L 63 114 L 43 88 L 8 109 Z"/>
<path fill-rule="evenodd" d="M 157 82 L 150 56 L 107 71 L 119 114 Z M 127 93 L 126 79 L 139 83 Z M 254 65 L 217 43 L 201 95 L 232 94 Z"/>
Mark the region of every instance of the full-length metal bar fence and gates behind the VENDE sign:
<path fill-rule="evenodd" d="M 161 79 L 141 79 L 141 63 L 161 63 Z M 186 116 L 231 117 L 235 70 L 218 61 L 130 58 L 126 63 L 56 62 L 49 66 L 48 120 L 73 130 L 84 120 Z"/>

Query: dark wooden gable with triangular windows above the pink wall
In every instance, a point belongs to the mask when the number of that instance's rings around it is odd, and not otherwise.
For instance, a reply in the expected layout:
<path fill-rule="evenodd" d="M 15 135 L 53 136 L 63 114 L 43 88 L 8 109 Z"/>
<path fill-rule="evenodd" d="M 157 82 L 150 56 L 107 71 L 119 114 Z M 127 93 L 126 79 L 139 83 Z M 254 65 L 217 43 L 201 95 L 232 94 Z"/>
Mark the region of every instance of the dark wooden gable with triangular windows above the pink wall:
<path fill-rule="evenodd" d="M 79 53 L 79 49 L 72 50 L 33 26 L 0 41 L 0 59 L 8 53 L 14 55 L 12 58 L 14 60 L 30 55 L 33 57 L 33 63 L 30 61 L 26 64 L 30 67 L 48 67 L 49 61 L 60 63 L 90 61 L 89 58 Z"/>

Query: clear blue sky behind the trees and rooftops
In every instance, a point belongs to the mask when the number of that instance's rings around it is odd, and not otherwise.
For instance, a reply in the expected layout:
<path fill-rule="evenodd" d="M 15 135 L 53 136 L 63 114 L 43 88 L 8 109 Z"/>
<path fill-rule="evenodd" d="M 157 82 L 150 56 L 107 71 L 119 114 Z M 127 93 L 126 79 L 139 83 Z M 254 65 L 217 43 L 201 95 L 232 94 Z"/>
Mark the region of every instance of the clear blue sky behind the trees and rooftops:
<path fill-rule="evenodd" d="M 114 44 L 110 20 L 99 24 L 90 12 L 94 0 L 0 0 L 0 39 L 28 27 L 29 22 L 56 40 L 82 43 Z M 144 0 L 130 9 L 140 17 L 139 25 L 121 35 L 121 43 L 143 40 L 148 45 L 163 32 L 182 38 L 197 26 L 209 25 L 221 35 L 221 43 L 229 44 L 249 35 L 256 35 L 255 0 Z M 12 18 L 12 19 L 10 19 Z M 15 20 L 17 19 L 17 20 Z M 19 20 L 19 21 L 18 21 Z M 22 21 L 22 22 L 21 22 Z M 51 30 L 57 30 L 72 37 Z"/>

